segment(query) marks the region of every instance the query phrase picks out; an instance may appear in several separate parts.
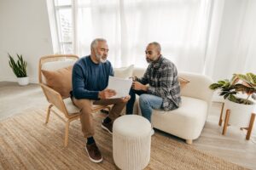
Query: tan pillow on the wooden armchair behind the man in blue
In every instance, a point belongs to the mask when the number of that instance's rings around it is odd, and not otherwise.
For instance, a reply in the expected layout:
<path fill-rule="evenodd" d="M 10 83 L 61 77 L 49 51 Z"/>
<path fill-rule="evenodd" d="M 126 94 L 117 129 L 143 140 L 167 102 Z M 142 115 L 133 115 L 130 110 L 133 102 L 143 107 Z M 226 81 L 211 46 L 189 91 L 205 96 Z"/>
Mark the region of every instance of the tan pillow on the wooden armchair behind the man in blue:
<path fill-rule="evenodd" d="M 49 88 L 61 94 L 62 98 L 68 98 L 72 89 L 72 69 L 73 65 L 58 69 L 56 71 L 45 71 L 42 73 Z"/>

